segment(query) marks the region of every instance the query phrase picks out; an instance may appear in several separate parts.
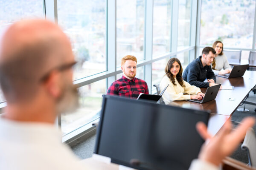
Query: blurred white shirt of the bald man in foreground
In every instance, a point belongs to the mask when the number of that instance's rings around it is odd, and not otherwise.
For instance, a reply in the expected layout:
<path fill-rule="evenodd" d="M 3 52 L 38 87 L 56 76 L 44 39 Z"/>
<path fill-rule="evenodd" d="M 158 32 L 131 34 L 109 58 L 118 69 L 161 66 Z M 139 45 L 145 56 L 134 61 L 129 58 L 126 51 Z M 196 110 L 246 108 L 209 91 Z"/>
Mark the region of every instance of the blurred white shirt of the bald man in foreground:
<path fill-rule="evenodd" d="M 0 118 L 0 170 L 85 170 L 50 124 Z"/>

